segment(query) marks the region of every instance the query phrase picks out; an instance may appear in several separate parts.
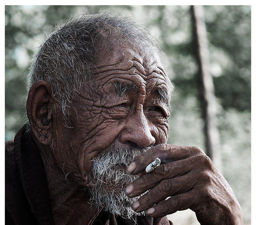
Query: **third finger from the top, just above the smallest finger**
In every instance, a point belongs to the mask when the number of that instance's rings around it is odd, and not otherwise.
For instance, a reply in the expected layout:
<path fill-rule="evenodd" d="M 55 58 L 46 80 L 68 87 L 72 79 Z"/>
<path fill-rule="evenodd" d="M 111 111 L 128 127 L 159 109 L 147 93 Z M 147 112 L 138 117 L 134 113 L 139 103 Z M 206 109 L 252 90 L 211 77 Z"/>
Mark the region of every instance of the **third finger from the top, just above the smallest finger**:
<path fill-rule="evenodd" d="M 191 175 L 187 174 L 181 177 L 162 180 L 159 185 L 154 187 L 148 193 L 144 194 L 139 200 L 134 202 L 132 204 L 132 209 L 139 213 L 172 195 L 190 191 L 193 189 L 198 179 L 191 179 L 191 177 Z M 195 176 L 193 177 L 195 178 Z"/>

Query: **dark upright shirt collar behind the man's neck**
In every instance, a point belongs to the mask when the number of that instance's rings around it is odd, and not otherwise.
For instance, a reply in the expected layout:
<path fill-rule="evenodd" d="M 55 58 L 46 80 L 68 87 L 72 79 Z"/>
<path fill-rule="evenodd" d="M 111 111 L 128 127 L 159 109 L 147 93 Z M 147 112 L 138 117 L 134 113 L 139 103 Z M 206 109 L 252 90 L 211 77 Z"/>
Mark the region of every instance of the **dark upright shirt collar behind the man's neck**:
<path fill-rule="evenodd" d="M 54 224 L 44 164 L 26 124 L 14 137 L 14 152 L 20 181 L 37 223 Z"/>

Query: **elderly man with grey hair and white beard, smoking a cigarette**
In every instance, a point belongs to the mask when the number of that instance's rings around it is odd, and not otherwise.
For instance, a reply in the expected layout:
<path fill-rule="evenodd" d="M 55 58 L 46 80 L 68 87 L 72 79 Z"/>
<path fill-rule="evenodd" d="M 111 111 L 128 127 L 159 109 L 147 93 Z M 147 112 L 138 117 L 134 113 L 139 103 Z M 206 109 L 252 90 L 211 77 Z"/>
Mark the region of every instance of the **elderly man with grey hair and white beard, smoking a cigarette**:
<path fill-rule="evenodd" d="M 209 157 L 166 144 L 172 89 L 131 19 L 88 13 L 56 28 L 28 74 L 29 122 L 5 143 L 6 224 L 164 225 L 188 208 L 201 224 L 242 224 Z"/>

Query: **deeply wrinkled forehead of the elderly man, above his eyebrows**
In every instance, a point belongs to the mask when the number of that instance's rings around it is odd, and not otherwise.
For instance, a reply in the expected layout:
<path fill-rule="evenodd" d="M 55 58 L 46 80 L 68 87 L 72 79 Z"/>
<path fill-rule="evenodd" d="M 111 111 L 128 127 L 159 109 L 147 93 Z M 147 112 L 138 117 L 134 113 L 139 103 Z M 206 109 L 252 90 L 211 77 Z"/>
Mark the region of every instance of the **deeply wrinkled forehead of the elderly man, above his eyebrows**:
<path fill-rule="evenodd" d="M 93 71 L 96 80 L 118 78 L 137 86 L 166 85 L 171 89 L 171 82 L 164 69 L 156 47 L 149 44 L 131 45 L 122 40 L 99 46 Z"/>

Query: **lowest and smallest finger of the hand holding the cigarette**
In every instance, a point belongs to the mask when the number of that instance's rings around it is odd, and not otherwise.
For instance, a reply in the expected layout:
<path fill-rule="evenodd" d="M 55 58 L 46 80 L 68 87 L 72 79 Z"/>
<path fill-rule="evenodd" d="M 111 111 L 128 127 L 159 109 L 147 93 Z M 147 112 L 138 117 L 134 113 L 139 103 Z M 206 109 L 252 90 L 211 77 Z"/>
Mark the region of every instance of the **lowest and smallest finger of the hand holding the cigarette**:
<path fill-rule="evenodd" d="M 194 192 L 186 192 L 174 195 L 173 197 L 162 201 L 152 208 L 146 210 L 146 215 L 151 217 L 163 217 L 177 211 L 186 210 L 194 204 Z"/>

